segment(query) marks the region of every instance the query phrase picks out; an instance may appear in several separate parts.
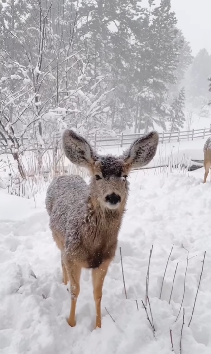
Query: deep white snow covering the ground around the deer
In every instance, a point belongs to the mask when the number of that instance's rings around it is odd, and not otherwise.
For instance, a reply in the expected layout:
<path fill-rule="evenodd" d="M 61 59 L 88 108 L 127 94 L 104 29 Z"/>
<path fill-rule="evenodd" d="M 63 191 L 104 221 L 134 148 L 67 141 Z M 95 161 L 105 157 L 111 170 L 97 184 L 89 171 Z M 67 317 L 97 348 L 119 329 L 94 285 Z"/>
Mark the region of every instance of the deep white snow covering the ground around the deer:
<path fill-rule="evenodd" d="M 131 174 L 127 213 L 119 235 L 128 299 L 117 249 L 104 283 L 102 328 L 97 330 L 93 330 L 95 306 L 89 271 L 84 270 L 81 276 L 76 327 L 66 322 L 70 295 L 62 284 L 60 252 L 48 227 L 45 193 L 37 195 L 35 209 L 33 199 L 10 196 L 0 189 L 0 353 L 170 354 L 171 328 L 174 351 L 179 354 L 183 310 L 177 321 L 176 317 L 184 293 L 189 250 L 181 353 L 210 354 L 211 184 L 202 184 L 203 174 L 203 168 L 189 175 L 168 171 L 155 174 L 154 170 Z M 145 301 L 152 244 L 148 295 L 155 337 L 141 303 Z M 204 251 L 201 286 L 188 327 Z M 36 279 L 30 275 L 31 270 Z"/>

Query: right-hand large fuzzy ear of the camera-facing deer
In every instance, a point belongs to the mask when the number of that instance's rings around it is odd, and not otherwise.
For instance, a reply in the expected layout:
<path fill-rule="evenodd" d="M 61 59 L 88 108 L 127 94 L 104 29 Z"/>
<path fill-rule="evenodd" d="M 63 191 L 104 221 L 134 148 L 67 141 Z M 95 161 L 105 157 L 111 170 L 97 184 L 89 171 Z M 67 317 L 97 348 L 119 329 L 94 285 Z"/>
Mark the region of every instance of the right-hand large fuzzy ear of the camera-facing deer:
<path fill-rule="evenodd" d="M 159 135 L 155 131 L 138 138 L 123 153 L 124 162 L 131 169 L 147 165 L 156 154 L 158 142 Z"/>

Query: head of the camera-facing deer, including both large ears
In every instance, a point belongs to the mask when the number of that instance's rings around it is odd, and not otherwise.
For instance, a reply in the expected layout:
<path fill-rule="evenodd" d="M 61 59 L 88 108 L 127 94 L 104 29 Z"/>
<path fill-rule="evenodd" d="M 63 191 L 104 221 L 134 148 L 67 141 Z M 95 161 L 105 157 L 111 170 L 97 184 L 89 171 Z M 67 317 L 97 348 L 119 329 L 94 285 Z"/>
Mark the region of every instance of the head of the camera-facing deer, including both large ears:
<path fill-rule="evenodd" d="M 63 133 L 65 155 L 72 163 L 90 171 L 93 197 L 102 207 L 109 209 L 117 209 L 121 203 L 125 203 L 128 174 L 153 159 L 158 141 L 159 135 L 153 131 L 135 140 L 119 157 L 102 156 L 73 130 L 67 129 Z"/>

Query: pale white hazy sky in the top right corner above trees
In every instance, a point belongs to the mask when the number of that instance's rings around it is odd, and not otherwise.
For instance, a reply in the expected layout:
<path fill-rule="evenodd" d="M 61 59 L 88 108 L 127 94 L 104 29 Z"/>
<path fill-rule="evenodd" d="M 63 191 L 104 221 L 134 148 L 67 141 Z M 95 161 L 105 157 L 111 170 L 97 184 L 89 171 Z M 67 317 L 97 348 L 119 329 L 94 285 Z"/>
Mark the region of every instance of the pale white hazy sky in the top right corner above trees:
<path fill-rule="evenodd" d="M 192 54 L 202 48 L 211 54 L 211 0 L 172 0 L 172 10 L 178 28 L 191 44 Z"/>

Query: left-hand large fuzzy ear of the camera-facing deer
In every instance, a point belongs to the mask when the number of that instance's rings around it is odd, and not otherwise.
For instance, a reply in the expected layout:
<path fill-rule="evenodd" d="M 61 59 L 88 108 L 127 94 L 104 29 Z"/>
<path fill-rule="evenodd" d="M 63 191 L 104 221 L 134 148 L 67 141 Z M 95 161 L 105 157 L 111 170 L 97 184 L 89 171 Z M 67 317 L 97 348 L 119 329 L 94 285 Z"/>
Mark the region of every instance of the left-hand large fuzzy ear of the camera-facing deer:
<path fill-rule="evenodd" d="M 90 168 L 97 160 L 97 155 L 90 144 L 76 132 L 66 129 L 62 135 L 66 157 L 75 165 Z"/>

